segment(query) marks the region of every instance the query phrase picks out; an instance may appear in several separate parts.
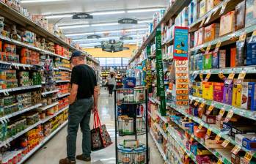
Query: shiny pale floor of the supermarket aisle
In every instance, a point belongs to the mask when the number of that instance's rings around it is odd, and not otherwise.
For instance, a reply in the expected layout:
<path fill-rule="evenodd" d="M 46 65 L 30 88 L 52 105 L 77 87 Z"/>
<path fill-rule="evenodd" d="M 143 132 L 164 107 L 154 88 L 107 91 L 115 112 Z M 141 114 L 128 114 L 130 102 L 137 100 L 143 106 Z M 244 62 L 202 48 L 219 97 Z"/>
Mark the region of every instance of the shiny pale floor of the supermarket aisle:
<path fill-rule="evenodd" d="M 105 89 L 101 89 L 98 108 L 100 113 L 100 120 L 106 127 L 114 142 L 114 97 L 109 97 Z M 92 119 L 92 118 L 91 118 Z M 92 120 L 91 120 L 92 121 Z M 66 157 L 66 136 L 67 127 L 63 128 L 58 134 L 54 136 L 45 146 L 34 154 L 26 164 L 58 164 L 59 159 Z M 150 135 L 149 135 L 150 136 Z M 122 141 L 122 138 L 118 138 Z M 162 164 L 164 161 L 161 154 L 157 151 L 156 145 L 152 138 L 149 137 L 150 143 L 150 164 Z M 114 164 L 114 144 L 106 149 L 98 152 L 92 152 L 92 164 Z M 78 132 L 77 150 L 76 154 L 81 154 L 81 132 Z M 82 161 L 76 161 L 78 164 L 87 164 Z M 88 163 L 89 164 L 89 163 Z"/>

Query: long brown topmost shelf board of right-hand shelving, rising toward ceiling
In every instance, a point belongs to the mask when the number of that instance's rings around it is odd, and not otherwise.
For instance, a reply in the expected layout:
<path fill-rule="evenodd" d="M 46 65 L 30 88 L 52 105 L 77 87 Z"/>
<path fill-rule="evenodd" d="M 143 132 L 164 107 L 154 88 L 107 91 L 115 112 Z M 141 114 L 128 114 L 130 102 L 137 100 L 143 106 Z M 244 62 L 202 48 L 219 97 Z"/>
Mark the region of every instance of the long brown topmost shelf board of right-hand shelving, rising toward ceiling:
<path fill-rule="evenodd" d="M 178 13 L 183 10 L 184 7 L 188 6 L 190 3 L 190 0 L 183 0 L 183 1 L 175 1 L 174 4 L 172 4 L 172 7 L 169 7 L 167 12 L 164 14 L 164 17 L 160 20 L 156 28 L 151 32 L 151 34 L 147 37 L 147 40 L 142 43 L 142 46 L 139 48 L 139 51 L 137 51 L 136 55 L 132 57 L 132 59 L 129 61 L 129 64 L 134 62 L 136 58 L 140 56 L 142 51 L 146 48 L 146 46 L 154 39 L 156 36 L 156 29 L 161 26 L 161 23 L 167 23 L 173 16 L 178 15 Z"/>

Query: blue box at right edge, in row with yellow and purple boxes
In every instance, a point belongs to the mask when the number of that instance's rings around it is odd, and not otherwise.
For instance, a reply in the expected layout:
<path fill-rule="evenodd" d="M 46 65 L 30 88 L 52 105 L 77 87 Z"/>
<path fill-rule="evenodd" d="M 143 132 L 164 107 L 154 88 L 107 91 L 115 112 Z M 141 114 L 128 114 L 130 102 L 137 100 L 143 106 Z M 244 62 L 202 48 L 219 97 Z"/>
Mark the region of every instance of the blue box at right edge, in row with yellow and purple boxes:
<path fill-rule="evenodd" d="M 248 83 L 248 109 L 256 111 L 256 84 L 255 82 Z"/>

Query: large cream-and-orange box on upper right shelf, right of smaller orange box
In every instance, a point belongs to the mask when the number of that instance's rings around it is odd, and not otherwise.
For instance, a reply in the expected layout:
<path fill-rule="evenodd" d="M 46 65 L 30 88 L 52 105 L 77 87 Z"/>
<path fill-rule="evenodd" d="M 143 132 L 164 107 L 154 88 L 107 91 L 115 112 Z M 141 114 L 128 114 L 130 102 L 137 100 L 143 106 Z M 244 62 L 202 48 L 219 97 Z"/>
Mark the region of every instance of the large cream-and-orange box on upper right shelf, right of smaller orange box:
<path fill-rule="evenodd" d="M 219 36 L 235 31 L 235 11 L 222 15 L 220 20 Z"/>

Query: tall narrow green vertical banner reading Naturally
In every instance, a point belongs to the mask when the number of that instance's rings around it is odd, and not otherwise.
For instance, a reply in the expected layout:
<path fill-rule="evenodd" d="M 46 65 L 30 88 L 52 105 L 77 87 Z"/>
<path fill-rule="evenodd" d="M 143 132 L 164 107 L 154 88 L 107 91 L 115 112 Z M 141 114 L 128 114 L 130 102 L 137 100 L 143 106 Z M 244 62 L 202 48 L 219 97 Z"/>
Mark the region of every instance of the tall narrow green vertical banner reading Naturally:
<path fill-rule="evenodd" d="M 161 116 L 166 116 L 166 102 L 164 91 L 164 68 L 162 63 L 162 50 L 161 50 L 161 28 L 156 29 L 156 72 L 157 72 L 157 95 L 160 97 Z"/>

